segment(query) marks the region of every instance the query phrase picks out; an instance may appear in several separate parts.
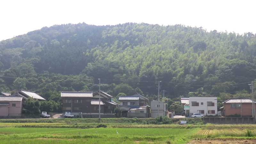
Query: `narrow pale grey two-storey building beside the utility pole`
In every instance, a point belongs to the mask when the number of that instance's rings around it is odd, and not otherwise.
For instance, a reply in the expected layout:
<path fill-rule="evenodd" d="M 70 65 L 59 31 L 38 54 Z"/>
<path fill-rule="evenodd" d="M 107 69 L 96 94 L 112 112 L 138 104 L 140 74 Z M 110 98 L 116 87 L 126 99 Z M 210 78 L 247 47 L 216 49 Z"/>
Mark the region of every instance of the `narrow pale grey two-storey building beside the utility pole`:
<path fill-rule="evenodd" d="M 166 116 L 166 104 L 163 101 L 151 101 L 151 117 Z M 159 112 L 158 112 L 159 110 Z"/>

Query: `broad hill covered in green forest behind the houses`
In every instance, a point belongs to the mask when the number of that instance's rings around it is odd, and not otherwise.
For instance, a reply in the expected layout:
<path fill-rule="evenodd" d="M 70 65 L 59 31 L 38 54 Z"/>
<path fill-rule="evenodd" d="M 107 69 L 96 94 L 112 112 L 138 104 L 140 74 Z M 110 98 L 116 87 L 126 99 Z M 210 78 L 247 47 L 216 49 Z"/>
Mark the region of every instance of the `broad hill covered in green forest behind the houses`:
<path fill-rule="evenodd" d="M 0 75 L 6 77 L 0 77 L 0 91 L 27 89 L 47 98 L 95 91 L 101 78 L 102 89 L 113 96 L 150 97 L 158 80 L 172 98 L 235 95 L 250 91 L 241 83 L 256 78 L 255 55 L 252 33 L 145 23 L 56 25 L 1 41 Z"/>

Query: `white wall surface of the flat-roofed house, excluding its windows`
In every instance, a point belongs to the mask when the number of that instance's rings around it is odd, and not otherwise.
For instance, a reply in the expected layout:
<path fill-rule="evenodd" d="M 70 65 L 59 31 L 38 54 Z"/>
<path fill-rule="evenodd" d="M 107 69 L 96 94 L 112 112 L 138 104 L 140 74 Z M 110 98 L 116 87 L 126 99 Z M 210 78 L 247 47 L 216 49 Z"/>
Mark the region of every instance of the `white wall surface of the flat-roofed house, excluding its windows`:
<path fill-rule="evenodd" d="M 207 106 L 207 102 L 213 102 L 214 106 Z M 192 106 L 192 102 L 198 102 L 199 106 Z M 201 104 L 203 102 L 203 105 Z M 197 110 L 204 110 L 202 115 L 217 114 L 217 97 L 189 97 L 189 113 L 197 113 Z M 215 110 L 214 114 L 208 114 L 208 110 Z"/>

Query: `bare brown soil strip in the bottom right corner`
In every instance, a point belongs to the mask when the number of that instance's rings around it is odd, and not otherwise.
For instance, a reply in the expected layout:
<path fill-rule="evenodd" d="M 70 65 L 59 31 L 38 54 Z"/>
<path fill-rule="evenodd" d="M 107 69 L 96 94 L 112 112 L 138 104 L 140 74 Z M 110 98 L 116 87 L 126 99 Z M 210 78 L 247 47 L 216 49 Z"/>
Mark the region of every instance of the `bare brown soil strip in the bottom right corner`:
<path fill-rule="evenodd" d="M 188 142 L 187 144 L 238 144 L 238 143 L 242 143 L 242 144 L 255 144 L 256 140 L 245 140 L 245 139 L 213 139 L 213 140 L 208 140 L 208 139 L 201 139 L 201 140 L 192 140 L 190 142 Z"/>

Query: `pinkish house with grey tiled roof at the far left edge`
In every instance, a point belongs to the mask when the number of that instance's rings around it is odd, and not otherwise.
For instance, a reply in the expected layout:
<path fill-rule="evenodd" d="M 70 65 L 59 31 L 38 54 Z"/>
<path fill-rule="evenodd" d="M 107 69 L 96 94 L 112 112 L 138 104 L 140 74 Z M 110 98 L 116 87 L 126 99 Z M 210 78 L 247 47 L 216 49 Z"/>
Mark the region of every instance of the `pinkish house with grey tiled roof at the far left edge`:
<path fill-rule="evenodd" d="M 20 116 L 22 97 L 0 96 L 0 116 Z"/>

